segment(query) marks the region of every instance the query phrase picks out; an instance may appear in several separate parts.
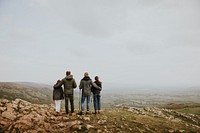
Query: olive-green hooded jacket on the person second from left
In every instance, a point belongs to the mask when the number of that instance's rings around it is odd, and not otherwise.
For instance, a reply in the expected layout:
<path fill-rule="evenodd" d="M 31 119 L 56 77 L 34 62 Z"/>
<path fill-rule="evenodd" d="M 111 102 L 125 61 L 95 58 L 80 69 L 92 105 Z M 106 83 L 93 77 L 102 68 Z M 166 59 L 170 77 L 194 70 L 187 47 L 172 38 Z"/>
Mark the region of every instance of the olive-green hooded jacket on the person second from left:
<path fill-rule="evenodd" d="M 77 87 L 76 81 L 72 75 L 68 75 L 62 79 L 62 81 L 57 86 L 64 85 L 64 94 L 73 95 L 74 89 Z"/>

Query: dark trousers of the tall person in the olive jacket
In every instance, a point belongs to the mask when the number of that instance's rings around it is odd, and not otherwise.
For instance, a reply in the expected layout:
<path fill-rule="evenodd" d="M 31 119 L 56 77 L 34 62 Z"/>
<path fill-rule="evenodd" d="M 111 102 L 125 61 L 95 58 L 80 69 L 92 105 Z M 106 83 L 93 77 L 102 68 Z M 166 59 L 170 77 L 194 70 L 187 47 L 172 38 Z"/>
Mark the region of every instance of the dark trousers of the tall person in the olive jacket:
<path fill-rule="evenodd" d="M 70 105 L 71 105 L 71 113 L 73 113 L 74 112 L 74 95 L 73 94 L 65 94 L 65 111 L 66 111 L 66 114 L 69 113 L 68 100 L 70 101 Z"/>

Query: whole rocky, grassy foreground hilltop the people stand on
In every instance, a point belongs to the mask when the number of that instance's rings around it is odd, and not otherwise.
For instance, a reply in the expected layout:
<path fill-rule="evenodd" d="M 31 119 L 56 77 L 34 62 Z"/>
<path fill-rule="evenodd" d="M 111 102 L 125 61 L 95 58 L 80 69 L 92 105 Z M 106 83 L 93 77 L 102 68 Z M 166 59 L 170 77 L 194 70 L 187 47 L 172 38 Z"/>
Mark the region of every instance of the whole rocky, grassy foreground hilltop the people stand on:
<path fill-rule="evenodd" d="M 200 132 L 200 116 L 164 108 L 119 106 L 101 114 L 55 113 L 53 105 L 0 100 L 0 132 L 159 133 Z"/>

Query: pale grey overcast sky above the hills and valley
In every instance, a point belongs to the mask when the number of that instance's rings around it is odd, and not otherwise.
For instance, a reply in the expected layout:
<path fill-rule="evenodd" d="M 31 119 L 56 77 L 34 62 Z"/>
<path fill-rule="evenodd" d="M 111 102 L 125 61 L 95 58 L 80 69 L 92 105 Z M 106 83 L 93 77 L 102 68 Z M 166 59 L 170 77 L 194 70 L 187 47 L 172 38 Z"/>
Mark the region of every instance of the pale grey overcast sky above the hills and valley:
<path fill-rule="evenodd" d="M 0 0 L 0 81 L 200 85 L 199 0 Z"/>

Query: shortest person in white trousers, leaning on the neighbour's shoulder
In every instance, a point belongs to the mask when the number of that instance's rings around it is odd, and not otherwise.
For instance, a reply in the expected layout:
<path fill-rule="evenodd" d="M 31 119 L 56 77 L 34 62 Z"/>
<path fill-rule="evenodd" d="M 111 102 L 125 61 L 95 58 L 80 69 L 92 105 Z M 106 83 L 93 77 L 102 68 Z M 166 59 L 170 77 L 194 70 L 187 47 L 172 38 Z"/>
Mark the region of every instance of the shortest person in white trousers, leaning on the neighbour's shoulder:
<path fill-rule="evenodd" d="M 60 112 L 61 101 L 64 99 L 63 88 L 61 86 L 57 86 L 60 82 L 61 81 L 58 80 L 57 83 L 53 86 L 53 100 L 55 102 L 56 112 Z"/>

